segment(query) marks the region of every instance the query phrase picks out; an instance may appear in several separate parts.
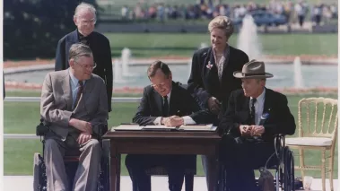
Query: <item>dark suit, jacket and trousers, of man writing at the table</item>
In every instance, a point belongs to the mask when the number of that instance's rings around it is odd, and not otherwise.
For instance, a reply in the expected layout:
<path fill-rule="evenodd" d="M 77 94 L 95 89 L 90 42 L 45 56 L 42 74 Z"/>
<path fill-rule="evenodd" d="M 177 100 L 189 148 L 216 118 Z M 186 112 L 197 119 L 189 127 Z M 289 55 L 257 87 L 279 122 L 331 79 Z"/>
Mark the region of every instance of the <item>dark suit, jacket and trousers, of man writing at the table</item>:
<path fill-rule="evenodd" d="M 162 116 L 162 97 L 152 86 L 144 88 L 143 98 L 133 118 L 139 125 L 153 125 L 157 117 Z M 179 83 L 172 82 L 170 93 L 169 116 L 189 116 L 196 124 L 212 123 L 212 115 L 201 110 L 190 93 Z M 193 167 L 191 167 L 191 166 Z M 169 175 L 169 188 L 171 191 L 181 190 L 184 178 L 184 169 L 196 168 L 196 156 L 193 155 L 142 155 L 128 154 L 126 168 L 133 181 L 134 191 L 151 190 L 150 176 L 145 174 L 145 169 L 154 166 L 163 166 Z"/>

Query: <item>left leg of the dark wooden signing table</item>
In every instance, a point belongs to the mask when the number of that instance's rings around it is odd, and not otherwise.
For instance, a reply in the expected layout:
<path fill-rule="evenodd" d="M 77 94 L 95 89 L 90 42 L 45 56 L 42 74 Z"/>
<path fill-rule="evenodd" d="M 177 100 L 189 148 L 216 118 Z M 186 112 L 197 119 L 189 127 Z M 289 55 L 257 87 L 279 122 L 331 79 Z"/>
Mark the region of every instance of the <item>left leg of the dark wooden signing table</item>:
<path fill-rule="evenodd" d="M 110 160 L 110 190 L 119 191 L 120 183 L 120 154 L 118 153 L 117 143 L 111 140 L 111 160 Z"/>

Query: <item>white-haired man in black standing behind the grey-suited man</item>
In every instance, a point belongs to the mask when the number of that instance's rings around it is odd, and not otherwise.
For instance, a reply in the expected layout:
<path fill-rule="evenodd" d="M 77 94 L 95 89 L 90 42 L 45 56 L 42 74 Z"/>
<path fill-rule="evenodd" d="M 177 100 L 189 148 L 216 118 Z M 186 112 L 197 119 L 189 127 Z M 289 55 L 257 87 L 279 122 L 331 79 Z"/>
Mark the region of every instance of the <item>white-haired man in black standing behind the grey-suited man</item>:
<path fill-rule="evenodd" d="M 74 43 L 82 42 L 92 49 L 94 63 L 93 74 L 99 75 L 106 84 L 108 107 L 111 111 L 112 97 L 112 58 L 109 39 L 99 32 L 93 31 L 96 23 L 96 9 L 92 4 L 82 3 L 75 8 L 74 24 L 77 29 L 60 39 L 57 44 L 55 70 L 65 70 L 70 66 L 68 51 Z"/>

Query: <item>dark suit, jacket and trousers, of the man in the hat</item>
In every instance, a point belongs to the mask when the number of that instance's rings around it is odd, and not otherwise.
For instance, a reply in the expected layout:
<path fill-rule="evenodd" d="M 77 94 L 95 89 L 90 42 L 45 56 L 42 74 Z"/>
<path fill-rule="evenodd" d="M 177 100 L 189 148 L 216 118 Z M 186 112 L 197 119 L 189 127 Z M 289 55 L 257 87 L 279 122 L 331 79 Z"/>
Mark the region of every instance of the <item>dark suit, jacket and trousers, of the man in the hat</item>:
<path fill-rule="evenodd" d="M 264 135 L 258 139 L 240 136 L 240 125 L 253 125 L 250 124 L 249 100 L 242 90 L 232 91 L 227 111 L 219 125 L 224 135 L 221 160 L 227 167 L 227 182 L 231 191 L 257 190 L 253 169 L 264 167 L 266 160 L 275 152 L 275 135 L 293 135 L 296 127 L 287 98 L 266 89 L 263 114 L 267 117 L 259 122 L 265 127 Z"/>

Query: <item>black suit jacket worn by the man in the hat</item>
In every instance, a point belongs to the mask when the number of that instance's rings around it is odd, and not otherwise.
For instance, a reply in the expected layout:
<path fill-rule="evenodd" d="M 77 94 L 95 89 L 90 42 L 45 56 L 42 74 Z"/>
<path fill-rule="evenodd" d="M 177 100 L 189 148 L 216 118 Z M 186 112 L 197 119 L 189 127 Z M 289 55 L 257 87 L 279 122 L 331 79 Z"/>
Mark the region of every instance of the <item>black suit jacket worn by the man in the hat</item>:
<path fill-rule="evenodd" d="M 240 137 L 240 125 L 250 124 L 249 98 L 244 96 L 243 90 L 231 92 L 228 108 L 222 117 L 219 131 L 222 134 L 230 134 Z M 295 133 L 295 120 L 288 108 L 287 98 L 276 91 L 266 89 L 264 114 L 266 119 L 261 119 L 265 127 L 265 134 L 262 138 L 266 141 L 273 141 L 274 135 L 293 135 Z"/>

